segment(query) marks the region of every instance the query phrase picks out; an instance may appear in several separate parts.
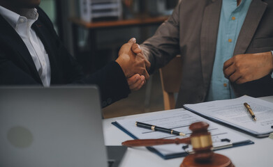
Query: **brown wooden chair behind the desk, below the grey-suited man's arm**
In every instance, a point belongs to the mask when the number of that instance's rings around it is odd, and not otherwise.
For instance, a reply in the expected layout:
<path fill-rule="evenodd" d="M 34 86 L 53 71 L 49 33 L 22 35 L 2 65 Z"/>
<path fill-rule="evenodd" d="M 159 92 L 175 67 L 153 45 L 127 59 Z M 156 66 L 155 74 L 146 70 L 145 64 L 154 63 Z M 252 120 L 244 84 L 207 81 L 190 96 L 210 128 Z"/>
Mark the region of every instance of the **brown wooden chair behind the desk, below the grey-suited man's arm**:
<path fill-rule="evenodd" d="M 181 56 L 178 55 L 159 69 L 163 90 L 164 109 L 175 109 L 175 93 L 179 92 L 182 79 Z"/>

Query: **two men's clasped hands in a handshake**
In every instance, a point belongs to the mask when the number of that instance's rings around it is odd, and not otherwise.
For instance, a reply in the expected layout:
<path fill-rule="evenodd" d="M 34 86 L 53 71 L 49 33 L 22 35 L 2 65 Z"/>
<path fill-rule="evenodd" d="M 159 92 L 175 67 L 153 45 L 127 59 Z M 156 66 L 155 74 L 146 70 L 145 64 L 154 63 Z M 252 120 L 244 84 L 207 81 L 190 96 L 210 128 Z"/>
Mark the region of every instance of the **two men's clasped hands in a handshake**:
<path fill-rule="evenodd" d="M 116 62 L 119 64 L 128 81 L 131 90 L 139 90 L 149 79 L 147 69 L 151 66 L 147 58 L 142 54 L 140 46 L 131 38 L 119 50 Z"/>

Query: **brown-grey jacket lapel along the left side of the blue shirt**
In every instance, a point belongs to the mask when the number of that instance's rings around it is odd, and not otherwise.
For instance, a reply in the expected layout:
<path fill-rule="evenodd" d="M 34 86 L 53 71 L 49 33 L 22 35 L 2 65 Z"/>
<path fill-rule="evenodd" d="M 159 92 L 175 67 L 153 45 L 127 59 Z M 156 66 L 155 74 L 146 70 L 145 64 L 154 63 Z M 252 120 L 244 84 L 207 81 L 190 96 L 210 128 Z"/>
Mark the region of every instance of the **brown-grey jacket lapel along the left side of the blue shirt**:
<path fill-rule="evenodd" d="M 200 37 L 200 54 L 202 63 L 202 76 L 204 85 L 209 86 L 214 64 L 216 41 L 221 14 L 221 0 L 214 0 L 204 12 Z"/>

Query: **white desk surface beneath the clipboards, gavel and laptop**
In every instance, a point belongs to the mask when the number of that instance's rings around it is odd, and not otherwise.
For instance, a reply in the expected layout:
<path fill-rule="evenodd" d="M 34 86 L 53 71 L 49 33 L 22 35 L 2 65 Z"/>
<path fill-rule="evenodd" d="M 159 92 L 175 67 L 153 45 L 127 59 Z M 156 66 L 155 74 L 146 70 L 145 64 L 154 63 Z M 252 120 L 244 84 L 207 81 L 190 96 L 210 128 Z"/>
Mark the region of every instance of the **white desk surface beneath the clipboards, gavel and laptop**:
<path fill-rule="evenodd" d="M 260 99 L 273 102 L 273 96 L 261 97 Z M 159 111 L 166 112 L 166 111 Z M 133 116 L 124 116 L 119 118 L 110 118 L 103 120 L 103 134 L 105 138 L 105 145 L 121 145 L 123 141 L 132 140 L 130 136 L 121 132 L 117 127 L 111 124 L 115 120 L 122 120 L 124 118 L 149 116 L 156 114 L 153 113 L 143 113 Z M 235 131 L 235 130 L 233 130 Z M 235 131 L 237 132 L 237 131 Z M 248 137 L 255 144 L 244 145 L 237 148 L 228 148 L 225 150 L 216 151 L 216 153 L 226 155 L 233 161 L 235 166 L 263 166 L 271 167 L 273 166 L 273 139 L 271 138 L 255 138 L 247 134 L 240 133 Z M 120 167 L 165 167 L 165 166 L 180 166 L 183 161 L 183 157 L 164 160 L 157 154 L 154 154 L 147 150 L 145 147 L 140 148 L 128 148 L 124 159 L 121 161 Z"/>

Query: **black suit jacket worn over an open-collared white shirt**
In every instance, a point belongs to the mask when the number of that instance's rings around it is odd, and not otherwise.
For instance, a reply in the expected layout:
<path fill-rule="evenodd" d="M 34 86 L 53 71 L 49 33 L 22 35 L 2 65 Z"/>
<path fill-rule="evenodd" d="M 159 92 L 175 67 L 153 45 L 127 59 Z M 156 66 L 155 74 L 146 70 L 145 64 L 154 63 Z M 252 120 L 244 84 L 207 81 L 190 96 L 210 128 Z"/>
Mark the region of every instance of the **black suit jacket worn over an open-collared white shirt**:
<path fill-rule="evenodd" d="M 32 28 L 43 42 L 50 59 L 51 86 L 64 84 L 96 84 L 101 90 L 102 105 L 127 97 L 130 93 L 124 72 L 116 62 L 84 77 L 82 68 L 62 45 L 47 15 L 38 10 Z M 0 15 L 0 85 L 43 86 L 34 61 L 20 35 Z"/>

